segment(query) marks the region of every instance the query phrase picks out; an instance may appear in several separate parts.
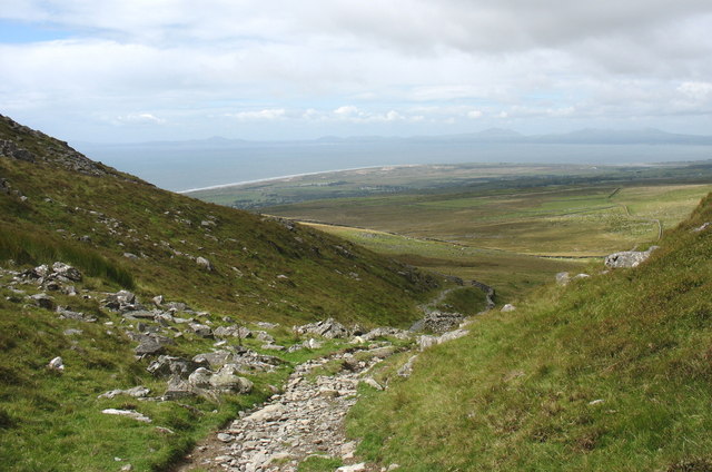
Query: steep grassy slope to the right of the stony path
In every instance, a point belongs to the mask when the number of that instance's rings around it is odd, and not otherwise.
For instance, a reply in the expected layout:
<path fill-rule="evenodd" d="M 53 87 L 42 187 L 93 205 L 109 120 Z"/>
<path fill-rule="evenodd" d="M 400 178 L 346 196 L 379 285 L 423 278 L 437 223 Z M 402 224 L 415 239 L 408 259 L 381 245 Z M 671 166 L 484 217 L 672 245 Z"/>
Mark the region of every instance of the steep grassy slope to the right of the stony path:
<path fill-rule="evenodd" d="M 641 266 L 551 285 L 364 387 L 349 430 L 404 471 L 712 470 L 712 196 Z M 710 225 L 708 225 L 710 226 Z"/>

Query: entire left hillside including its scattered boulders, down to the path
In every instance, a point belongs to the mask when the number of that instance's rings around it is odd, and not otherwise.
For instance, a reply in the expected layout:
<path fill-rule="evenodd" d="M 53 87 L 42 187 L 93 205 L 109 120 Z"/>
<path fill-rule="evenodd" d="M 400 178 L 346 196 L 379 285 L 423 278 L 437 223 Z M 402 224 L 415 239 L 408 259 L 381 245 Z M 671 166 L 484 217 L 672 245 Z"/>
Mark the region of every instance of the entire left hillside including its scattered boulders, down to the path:
<path fill-rule="evenodd" d="M 348 346 L 293 325 L 409 325 L 442 283 L 6 117 L 0 155 L 2 470 L 165 470 L 295 365 Z"/>

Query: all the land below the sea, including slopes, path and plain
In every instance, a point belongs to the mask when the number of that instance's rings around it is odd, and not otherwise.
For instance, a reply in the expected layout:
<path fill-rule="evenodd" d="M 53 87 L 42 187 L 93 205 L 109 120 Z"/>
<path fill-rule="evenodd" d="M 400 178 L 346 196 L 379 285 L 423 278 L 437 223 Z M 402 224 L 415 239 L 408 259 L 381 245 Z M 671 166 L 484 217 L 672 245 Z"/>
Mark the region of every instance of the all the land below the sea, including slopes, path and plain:
<path fill-rule="evenodd" d="M 9 471 L 712 468 L 709 161 L 201 201 L 0 118 Z"/>

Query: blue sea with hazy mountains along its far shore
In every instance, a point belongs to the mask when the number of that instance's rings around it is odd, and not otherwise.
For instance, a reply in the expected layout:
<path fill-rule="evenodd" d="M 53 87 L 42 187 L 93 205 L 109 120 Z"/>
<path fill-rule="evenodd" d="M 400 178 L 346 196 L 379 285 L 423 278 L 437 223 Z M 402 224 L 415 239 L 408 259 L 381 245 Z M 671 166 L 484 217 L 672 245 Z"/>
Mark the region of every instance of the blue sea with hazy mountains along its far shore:
<path fill-rule="evenodd" d="M 171 190 L 359 167 L 407 164 L 640 164 L 712 158 L 712 136 L 659 129 L 522 135 L 492 128 L 445 136 L 325 136 L 253 141 L 211 137 L 134 144 L 73 142 L 86 155 Z"/>

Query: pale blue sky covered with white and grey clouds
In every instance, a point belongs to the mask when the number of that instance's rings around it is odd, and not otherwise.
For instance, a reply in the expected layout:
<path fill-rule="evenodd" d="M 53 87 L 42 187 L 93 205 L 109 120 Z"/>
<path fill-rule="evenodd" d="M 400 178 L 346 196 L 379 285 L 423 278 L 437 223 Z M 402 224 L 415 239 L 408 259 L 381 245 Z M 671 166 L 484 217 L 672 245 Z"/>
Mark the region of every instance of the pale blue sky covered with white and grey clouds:
<path fill-rule="evenodd" d="M 712 1 L 0 0 L 0 70 L 70 142 L 712 135 Z"/>

